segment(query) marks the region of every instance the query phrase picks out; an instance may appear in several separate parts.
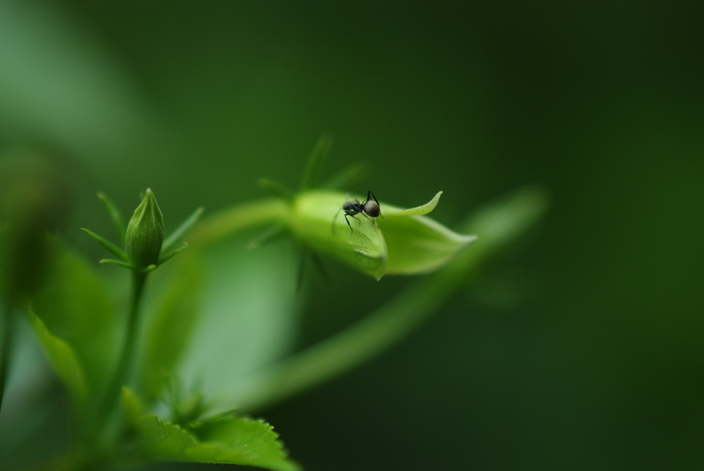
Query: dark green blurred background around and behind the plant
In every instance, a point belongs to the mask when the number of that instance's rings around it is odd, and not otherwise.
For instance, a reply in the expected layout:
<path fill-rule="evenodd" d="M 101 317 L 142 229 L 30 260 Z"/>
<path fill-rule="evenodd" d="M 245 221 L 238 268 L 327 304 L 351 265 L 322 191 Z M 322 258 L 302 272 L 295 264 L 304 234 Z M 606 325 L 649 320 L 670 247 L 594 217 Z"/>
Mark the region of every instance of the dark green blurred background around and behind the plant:
<path fill-rule="evenodd" d="M 538 183 L 526 243 L 393 351 L 260 415 L 311 471 L 701 469 L 703 5 L 3 1 L 0 151 L 60 157 L 66 238 L 94 258 L 95 191 L 130 208 L 149 186 L 173 228 L 265 196 L 259 177 L 296 186 L 325 132 L 327 174 L 367 164 L 346 189 L 443 190 L 450 227 Z M 406 284 L 329 268 L 299 344 Z"/>

